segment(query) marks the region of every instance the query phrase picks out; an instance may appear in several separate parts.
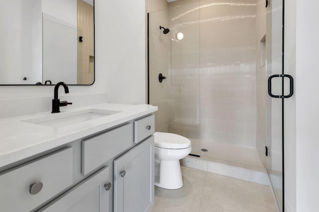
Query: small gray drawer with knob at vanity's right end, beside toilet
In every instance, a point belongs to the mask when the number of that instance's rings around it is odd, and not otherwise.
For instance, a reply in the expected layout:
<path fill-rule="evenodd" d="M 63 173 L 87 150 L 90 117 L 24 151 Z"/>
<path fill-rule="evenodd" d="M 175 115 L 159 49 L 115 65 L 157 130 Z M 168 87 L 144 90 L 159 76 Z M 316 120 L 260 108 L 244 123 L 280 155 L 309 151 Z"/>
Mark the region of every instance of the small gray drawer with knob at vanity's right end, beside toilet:
<path fill-rule="evenodd" d="M 155 132 L 154 115 L 134 121 L 134 142 L 138 143 Z"/>

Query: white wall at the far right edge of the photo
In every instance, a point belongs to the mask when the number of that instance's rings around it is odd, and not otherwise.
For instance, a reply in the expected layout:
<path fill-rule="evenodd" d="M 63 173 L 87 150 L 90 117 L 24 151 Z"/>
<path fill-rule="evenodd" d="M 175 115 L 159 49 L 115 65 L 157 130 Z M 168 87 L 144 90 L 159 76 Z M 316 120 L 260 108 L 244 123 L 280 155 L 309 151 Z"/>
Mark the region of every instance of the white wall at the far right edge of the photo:
<path fill-rule="evenodd" d="M 296 1 L 296 209 L 319 208 L 319 1 Z"/>

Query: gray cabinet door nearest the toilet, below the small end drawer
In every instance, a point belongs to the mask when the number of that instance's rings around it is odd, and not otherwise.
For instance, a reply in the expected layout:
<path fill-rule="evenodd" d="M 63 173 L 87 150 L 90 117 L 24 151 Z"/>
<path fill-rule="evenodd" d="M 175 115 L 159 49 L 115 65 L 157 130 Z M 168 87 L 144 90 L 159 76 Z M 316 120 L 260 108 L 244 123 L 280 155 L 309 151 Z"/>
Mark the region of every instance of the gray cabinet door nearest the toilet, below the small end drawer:
<path fill-rule="evenodd" d="M 114 160 L 114 212 L 149 212 L 153 205 L 154 136 Z"/>

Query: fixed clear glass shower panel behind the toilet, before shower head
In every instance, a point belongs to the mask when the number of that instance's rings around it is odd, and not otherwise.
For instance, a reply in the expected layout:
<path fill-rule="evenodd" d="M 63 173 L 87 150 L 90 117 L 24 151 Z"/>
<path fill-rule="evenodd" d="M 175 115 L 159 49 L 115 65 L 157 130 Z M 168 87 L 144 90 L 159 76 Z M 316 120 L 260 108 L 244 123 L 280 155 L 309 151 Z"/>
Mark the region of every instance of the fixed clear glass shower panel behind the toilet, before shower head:
<path fill-rule="evenodd" d="M 158 132 L 191 141 L 200 154 L 199 1 L 149 13 L 149 103 Z M 169 29 L 169 31 L 167 30 Z M 159 74 L 166 78 L 159 81 Z"/>

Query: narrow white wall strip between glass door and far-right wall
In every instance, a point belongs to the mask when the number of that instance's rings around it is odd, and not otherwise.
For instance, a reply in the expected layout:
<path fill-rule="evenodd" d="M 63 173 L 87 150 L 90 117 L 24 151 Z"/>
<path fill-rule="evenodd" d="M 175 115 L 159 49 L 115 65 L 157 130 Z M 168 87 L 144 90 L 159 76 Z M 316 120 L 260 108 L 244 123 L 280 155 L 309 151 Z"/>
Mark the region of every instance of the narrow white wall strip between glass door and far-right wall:
<path fill-rule="evenodd" d="M 296 0 L 285 2 L 285 73 L 292 75 L 295 82 L 299 80 L 296 78 Z M 288 212 L 296 212 L 296 97 L 297 93 L 285 99 L 285 209 Z"/>

